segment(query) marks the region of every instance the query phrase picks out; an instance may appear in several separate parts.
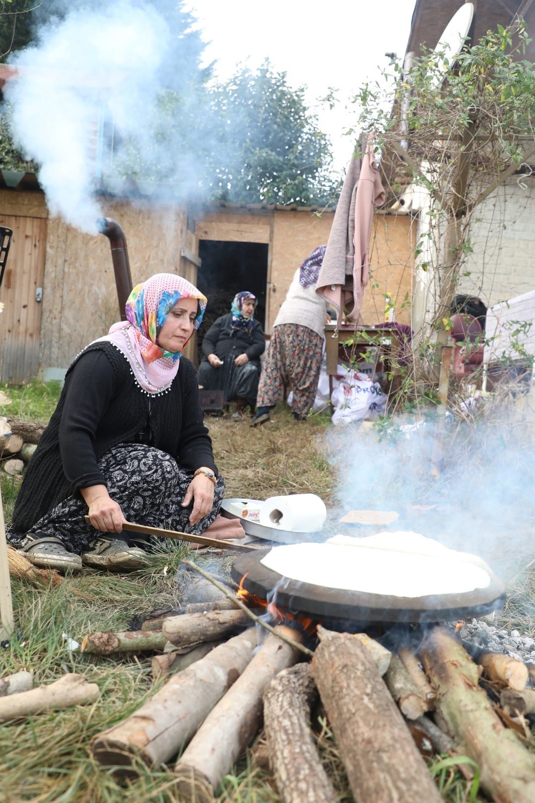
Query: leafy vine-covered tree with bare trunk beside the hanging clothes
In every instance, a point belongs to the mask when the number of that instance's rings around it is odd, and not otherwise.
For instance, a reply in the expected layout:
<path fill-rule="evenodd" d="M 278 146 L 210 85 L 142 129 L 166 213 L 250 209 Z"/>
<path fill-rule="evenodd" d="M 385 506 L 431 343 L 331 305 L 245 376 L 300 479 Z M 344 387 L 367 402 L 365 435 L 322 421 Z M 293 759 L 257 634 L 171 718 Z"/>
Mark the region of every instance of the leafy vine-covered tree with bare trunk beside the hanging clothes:
<path fill-rule="evenodd" d="M 425 51 L 404 74 L 392 63 L 383 76 L 386 89 L 368 83 L 355 99 L 362 128 L 375 132 L 391 193 L 403 202 L 410 185 L 426 199 L 415 257 L 436 288 L 432 332 L 422 337 L 428 349 L 421 350 L 435 365 L 472 254 L 478 207 L 535 157 L 535 71 L 524 59 L 528 42 L 521 20 L 498 26 L 456 63 Z M 448 371 L 442 365 L 444 402 Z"/>

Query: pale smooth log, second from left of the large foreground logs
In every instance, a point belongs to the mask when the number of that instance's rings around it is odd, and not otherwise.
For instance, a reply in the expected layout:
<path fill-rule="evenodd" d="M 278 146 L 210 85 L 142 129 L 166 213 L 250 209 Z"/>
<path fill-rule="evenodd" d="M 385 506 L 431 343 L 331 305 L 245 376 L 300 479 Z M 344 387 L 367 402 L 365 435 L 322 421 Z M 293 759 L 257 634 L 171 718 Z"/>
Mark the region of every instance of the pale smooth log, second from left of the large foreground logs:
<path fill-rule="evenodd" d="M 288 635 L 298 634 L 285 626 Z M 257 732 L 261 722 L 262 695 L 278 672 L 292 666 L 298 650 L 269 635 L 236 683 L 206 717 L 201 728 L 176 763 L 177 785 L 188 800 L 213 801 L 214 789 L 229 772 Z"/>

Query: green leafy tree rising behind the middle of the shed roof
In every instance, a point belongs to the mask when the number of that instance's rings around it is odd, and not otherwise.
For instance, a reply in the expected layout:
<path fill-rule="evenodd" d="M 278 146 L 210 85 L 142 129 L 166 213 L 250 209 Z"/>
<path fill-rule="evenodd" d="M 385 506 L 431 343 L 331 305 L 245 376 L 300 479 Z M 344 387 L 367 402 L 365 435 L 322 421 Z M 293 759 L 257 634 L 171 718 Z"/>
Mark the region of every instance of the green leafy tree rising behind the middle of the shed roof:
<path fill-rule="evenodd" d="M 214 198 L 333 202 L 329 140 L 306 108 L 304 90 L 290 88 L 286 72 L 269 63 L 256 71 L 242 68 L 213 89 L 212 113 L 219 132 L 209 177 Z"/>

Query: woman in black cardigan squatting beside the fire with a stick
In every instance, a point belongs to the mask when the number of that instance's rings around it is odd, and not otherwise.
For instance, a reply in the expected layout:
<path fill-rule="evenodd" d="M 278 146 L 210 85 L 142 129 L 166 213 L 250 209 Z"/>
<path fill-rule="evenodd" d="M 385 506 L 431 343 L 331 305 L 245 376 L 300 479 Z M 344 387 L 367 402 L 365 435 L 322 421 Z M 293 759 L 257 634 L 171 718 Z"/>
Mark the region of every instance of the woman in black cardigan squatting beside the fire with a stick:
<path fill-rule="evenodd" d="M 34 565 L 137 569 L 148 560 L 124 521 L 197 535 L 213 523 L 225 484 L 195 369 L 181 357 L 205 306 L 193 284 L 156 274 L 132 290 L 128 320 L 68 369 L 10 527 L 10 543 Z"/>

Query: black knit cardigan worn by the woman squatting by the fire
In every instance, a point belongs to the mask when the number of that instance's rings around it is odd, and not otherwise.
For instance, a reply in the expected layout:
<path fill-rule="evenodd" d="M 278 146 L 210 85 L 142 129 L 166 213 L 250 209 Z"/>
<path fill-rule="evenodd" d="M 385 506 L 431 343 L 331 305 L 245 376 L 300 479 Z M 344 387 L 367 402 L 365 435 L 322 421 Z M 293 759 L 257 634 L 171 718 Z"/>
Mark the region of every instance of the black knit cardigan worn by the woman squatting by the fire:
<path fill-rule="evenodd" d="M 187 471 L 206 466 L 217 474 L 193 364 L 181 357 L 168 392 L 149 397 L 119 349 L 91 344 L 67 371 L 58 406 L 26 468 L 11 532 L 28 532 L 79 488 L 105 485 L 99 459 L 112 446 L 140 439 Z"/>

